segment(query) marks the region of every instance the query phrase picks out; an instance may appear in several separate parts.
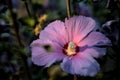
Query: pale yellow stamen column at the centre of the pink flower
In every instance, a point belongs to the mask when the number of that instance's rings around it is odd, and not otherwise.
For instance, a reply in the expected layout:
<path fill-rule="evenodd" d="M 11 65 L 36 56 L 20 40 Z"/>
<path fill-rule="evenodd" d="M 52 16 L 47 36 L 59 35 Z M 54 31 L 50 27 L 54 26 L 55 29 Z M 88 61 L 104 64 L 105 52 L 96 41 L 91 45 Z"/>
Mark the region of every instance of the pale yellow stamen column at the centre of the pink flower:
<path fill-rule="evenodd" d="M 68 56 L 76 54 L 76 45 L 73 42 L 69 42 L 68 47 L 66 49 L 66 53 Z"/>

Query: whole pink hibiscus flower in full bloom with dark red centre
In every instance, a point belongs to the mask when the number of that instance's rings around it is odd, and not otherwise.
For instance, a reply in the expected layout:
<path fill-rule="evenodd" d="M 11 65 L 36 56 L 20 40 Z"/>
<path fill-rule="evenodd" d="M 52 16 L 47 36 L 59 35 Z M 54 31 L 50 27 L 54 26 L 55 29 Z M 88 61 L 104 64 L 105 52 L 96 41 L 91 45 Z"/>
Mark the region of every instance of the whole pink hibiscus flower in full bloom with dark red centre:
<path fill-rule="evenodd" d="M 95 27 L 95 21 L 84 16 L 48 24 L 31 44 L 33 63 L 49 67 L 62 61 L 61 68 L 67 73 L 95 76 L 100 68 L 94 58 L 104 56 L 111 45 L 102 33 L 93 31 Z"/>

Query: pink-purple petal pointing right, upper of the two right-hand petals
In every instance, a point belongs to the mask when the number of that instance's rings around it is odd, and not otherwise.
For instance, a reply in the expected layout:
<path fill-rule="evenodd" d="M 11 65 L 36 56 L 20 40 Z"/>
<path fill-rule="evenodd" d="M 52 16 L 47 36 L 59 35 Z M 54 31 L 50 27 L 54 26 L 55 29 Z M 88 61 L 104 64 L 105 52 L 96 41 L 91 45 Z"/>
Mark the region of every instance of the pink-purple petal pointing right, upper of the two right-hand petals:
<path fill-rule="evenodd" d="M 78 46 L 109 46 L 111 45 L 110 40 L 105 37 L 102 33 L 91 32 L 85 39 L 79 42 Z"/>

